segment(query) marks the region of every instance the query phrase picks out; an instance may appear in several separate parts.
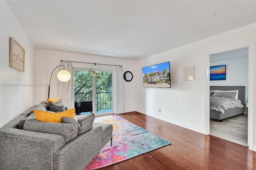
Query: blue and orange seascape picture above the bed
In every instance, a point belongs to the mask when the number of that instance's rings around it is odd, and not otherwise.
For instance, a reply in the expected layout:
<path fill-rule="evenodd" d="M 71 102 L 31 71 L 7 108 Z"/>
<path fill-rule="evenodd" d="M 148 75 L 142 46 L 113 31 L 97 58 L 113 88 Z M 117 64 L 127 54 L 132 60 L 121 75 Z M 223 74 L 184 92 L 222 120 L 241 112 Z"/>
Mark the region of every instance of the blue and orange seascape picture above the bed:
<path fill-rule="evenodd" d="M 210 67 L 210 81 L 213 80 L 226 80 L 226 65 Z"/>

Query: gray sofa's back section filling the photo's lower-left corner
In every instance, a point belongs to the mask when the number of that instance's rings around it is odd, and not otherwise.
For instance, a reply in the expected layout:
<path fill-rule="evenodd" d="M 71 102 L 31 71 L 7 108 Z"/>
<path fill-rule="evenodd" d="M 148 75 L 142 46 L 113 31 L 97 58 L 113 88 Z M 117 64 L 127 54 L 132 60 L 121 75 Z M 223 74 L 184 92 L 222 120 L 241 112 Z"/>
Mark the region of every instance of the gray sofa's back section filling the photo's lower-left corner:
<path fill-rule="evenodd" d="M 0 169 L 53 169 L 53 153 L 64 138 L 16 128 L 0 129 Z"/>

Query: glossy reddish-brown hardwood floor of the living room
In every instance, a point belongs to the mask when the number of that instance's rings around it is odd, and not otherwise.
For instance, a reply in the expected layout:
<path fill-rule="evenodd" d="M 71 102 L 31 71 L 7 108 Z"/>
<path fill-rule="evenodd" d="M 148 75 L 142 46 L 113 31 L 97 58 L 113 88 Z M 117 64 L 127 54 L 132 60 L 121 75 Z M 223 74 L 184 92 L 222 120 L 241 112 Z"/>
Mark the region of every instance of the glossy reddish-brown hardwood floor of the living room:
<path fill-rule="evenodd" d="M 172 144 L 101 169 L 256 170 L 256 152 L 240 144 L 206 136 L 138 112 L 119 116 Z"/>

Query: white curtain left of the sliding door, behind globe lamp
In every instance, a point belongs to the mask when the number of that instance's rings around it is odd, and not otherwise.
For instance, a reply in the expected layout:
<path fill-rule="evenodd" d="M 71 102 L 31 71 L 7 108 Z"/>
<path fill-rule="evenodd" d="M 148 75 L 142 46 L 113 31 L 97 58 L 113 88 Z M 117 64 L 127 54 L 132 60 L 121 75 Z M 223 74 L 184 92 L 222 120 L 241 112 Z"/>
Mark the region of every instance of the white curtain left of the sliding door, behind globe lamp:
<path fill-rule="evenodd" d="M 72 97 L 72 81 L 73 81 L 73 71 L 72 62 L 62 61 L 60 65 L 65 66 L 65 70 L 68 70 L 71 74 L 71 79 L 68 82 L 58 81 L 57 95 L 61 97 L 64 101 L 65 107 L 71 109 L 74 107 L 74 97 Z M 59 70 L 63 70 L 63 66 L 59 67 Z"/>

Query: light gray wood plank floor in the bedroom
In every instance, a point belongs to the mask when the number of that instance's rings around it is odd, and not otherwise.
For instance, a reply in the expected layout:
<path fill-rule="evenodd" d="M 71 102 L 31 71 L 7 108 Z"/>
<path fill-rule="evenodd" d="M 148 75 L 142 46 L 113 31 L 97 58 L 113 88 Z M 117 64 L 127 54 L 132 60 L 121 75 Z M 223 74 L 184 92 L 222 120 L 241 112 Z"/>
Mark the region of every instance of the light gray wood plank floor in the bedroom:
<path fill-rule="evenodd" d="M 210 134 L 244 146 L 248 146 L 248 117 L 244 114 L 224 119 L 223 122 L 210 119 Z"/>

